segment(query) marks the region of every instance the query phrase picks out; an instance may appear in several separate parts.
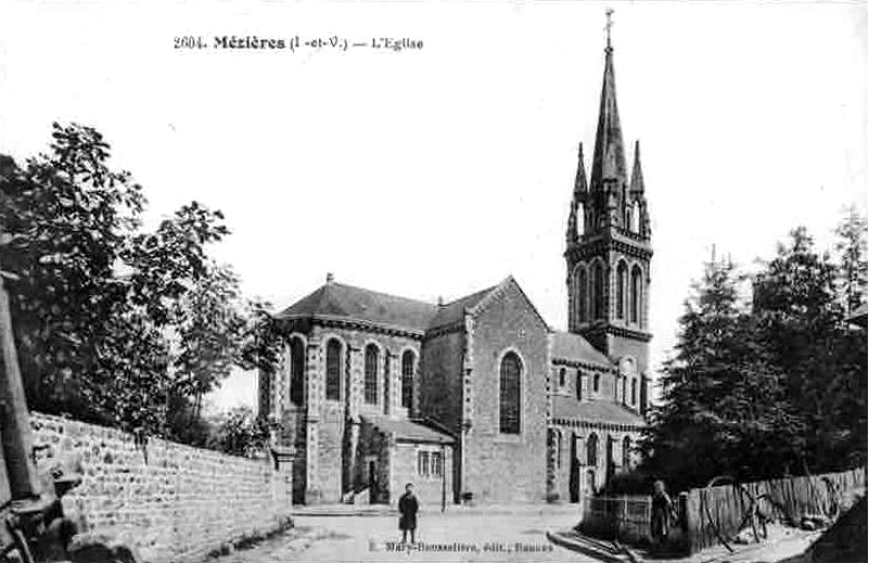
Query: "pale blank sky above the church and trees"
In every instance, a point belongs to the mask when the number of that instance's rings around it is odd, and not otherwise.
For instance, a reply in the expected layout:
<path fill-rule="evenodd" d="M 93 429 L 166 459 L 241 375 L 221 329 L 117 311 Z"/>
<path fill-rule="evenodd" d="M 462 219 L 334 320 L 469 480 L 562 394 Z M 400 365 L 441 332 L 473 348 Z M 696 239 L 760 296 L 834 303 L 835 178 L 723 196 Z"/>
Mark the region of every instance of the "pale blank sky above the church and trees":
<path fill-rule="evenodd" d="M 866 210 L 865 2 L 0 0 L 0 152 L 47 150 L 54 120 L 95 127 L 152 223 L 190 200 L 226 214 L 215 255 L 276 309 L 327 272 L 430 302 L 513 274 L 564 330 L 608 7 L 660 367 L 713 245 L 757 268 L 792 228 L 828 248 L 843 209 Z M 422 48 L 214 47 L 233 35 Z M 253 404 L 255 381 L 234 373 L 213 407 Z"/>

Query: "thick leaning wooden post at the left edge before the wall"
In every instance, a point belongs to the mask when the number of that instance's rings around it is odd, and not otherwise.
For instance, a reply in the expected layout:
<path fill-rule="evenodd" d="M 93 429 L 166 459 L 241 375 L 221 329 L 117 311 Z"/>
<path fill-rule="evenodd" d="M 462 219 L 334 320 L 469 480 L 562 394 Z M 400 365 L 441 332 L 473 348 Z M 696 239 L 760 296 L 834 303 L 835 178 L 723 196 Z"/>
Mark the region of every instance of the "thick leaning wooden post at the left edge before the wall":
<path fill-rule="evenodd" d="M 2 239 L 3 232 L 0 230 L 0 241 Z M 9 295 L 3 286 L 2 265 L 0 265 L 0 346 L 3 369 L 0 378 L 0 437 L 2 437 L 9 488 L 13 500 L 34 498 L 39 496 L 40 487 L 36 468 L 30 459 L 33 444 L 30 413 L 27 410 L 27 399 L 18 369 Z"/>

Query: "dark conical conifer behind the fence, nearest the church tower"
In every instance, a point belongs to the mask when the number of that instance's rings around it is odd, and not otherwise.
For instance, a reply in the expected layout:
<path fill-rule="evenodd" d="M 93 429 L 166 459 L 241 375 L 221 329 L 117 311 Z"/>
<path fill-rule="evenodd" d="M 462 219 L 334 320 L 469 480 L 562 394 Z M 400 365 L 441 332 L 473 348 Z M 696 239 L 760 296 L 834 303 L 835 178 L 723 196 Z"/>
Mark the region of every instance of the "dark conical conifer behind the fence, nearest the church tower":
<path fill-rule="evenodd" d="M 664 367 L 663 402 L 652 409 L 642 473 L 677 488 L 716 475 L 759 478 L 792 461 L 798 420 L 783 374 L 756 344 L 730 263 L 706 265 L 686 303 L 676 357 Z"/>

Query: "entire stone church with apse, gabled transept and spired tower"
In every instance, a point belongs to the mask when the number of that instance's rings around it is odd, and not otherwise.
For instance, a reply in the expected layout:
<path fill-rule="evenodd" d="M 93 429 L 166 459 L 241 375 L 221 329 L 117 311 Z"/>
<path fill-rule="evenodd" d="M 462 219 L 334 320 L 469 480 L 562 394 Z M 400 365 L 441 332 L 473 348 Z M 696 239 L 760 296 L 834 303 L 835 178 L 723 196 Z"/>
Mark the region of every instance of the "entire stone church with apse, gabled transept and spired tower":
<path fill-rule="evenodd" d="M 296 451 L 294 502 L 396 503 L 406 483 L 427 506 L 578 502 L 636 463 L 651 232 L 609 37 L 604 53 L 591 174 L 580 145 L 563 254 L 567 331 L 512 277 L 433 304 L 329 276 L 278 316 L 289 343 L 259 379 L 259 412 Z"/>

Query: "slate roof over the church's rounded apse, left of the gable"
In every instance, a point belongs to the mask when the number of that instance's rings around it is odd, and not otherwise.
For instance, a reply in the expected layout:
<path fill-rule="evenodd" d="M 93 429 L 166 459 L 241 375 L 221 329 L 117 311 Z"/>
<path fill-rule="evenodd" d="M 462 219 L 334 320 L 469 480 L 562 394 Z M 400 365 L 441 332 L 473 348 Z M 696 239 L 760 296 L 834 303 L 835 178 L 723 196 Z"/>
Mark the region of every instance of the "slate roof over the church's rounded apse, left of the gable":
<path fill-rule="evenodd" d="M 424 331 L 436 312 L 437 306 L 430 303 L 329 282 L 284 309 L 278 318 L 335 317 Z"/>

